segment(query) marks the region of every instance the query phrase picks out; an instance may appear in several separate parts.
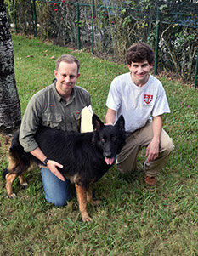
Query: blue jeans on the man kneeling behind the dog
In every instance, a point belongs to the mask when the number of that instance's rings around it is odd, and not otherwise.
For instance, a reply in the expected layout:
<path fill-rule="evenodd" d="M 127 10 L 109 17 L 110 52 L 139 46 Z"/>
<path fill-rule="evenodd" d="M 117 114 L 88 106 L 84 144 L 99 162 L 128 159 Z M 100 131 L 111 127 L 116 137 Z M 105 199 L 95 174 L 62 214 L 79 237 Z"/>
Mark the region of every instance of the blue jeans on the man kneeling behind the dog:
<path fill-rule="evenodd" d="M 65 206 L 71 198 L 69 179 L 60 180 L 48 168 L 41 168 L 41 172 L 46 201 L 58 207 Z"/>

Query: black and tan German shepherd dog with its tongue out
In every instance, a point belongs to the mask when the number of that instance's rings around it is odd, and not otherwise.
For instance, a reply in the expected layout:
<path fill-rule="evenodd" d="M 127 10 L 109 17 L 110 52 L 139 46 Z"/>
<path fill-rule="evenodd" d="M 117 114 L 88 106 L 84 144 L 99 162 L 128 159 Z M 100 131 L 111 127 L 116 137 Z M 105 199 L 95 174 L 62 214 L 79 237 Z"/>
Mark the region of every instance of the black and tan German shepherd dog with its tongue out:
<path fill-rule="evenodd" d="M 37 129 L 35 139 L 43 153 L 48 159 L 61 163 L 64 167 L 59 168 L 59 172 L 70 179 L 71 183 L 75 183 L 82 221 L 91 221 L 87 212 L 87 202 L 93 205 L 99 203 L 93 201 L 93 182 L 108 171 L 115 161 L 116 154 L 125 144 L 124 124 L 122 116 L 112 126 L 105 125 L 99 117 L 93 115 L 93 132 L 81 134 L 46 127 Z M 24 172 L 35 164 L 39 167 L 43 165 L 31 153 L 25 153 L 19 142 L 19 131 L 14 135 L 8 153 L 9 164 L 8 168 L 3 170 L 3 178 L 6 179 L 8 197 L 14 198 L 14 179 L 19 177 L 20 185 L 26 187 L 28 184 Z"/>

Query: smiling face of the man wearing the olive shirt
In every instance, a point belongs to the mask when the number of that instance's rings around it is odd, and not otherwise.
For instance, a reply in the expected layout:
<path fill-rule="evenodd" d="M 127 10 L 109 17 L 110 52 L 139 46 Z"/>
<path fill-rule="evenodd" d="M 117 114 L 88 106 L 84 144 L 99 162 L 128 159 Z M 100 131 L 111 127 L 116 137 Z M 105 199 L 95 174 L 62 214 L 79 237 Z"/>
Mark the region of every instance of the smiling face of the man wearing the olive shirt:
<path fill-rule="evenodd" d="M 60 95 L 70 95 L 72 88 L 76 84 L 77 78 L 80 76 L 77 73 L 76 63 L 60 62 L 58 71 L 54 71 L 57 79 L 56 89 Z"/>

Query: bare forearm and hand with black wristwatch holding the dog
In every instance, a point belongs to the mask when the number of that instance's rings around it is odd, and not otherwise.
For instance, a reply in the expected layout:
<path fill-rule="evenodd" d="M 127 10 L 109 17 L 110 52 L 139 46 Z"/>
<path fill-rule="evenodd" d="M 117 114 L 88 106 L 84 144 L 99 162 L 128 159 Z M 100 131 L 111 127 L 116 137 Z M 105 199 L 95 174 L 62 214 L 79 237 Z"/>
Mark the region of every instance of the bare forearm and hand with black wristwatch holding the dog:
<path fill-rule="evenodd" d="M 42 152 L 42 150 L 37 147 L 37 149 L 35 149 L 34 151 L 30 152 L 31 155 L 37 157 L 37 159 L 39 159 L 41 162 L 43 162 L 47 156 L 44 155 L 44 153 Z M 59 168 L 63 168 L 62 164 L 59 164 L 59 162 L 55 162 L 53 160 L 48 160 L 47 162 L 47 168 L 59 179 L 61 179 L 62 181 L 65 181 L 65 178 L 62 174 L 60 174 L 59 170 L 57 169 L 57 167 Z"/>

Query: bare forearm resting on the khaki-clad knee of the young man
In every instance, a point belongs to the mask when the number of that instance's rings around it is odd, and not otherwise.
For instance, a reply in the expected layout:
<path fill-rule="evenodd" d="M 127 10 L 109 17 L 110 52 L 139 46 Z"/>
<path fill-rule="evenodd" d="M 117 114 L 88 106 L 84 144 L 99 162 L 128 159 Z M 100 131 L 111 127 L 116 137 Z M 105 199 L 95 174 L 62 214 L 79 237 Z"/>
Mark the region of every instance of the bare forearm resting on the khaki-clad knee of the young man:
<path fill-rule="evenodd" d="M 162 117 L 161 116 L 154 117 L 152 122 L 153 139 L 150 141 L 150 144 L 146 149 L 145 157 L 148 156 L 146 162 L 153 161 L 159 156 L 161 128 L 162 128 Z"/>

